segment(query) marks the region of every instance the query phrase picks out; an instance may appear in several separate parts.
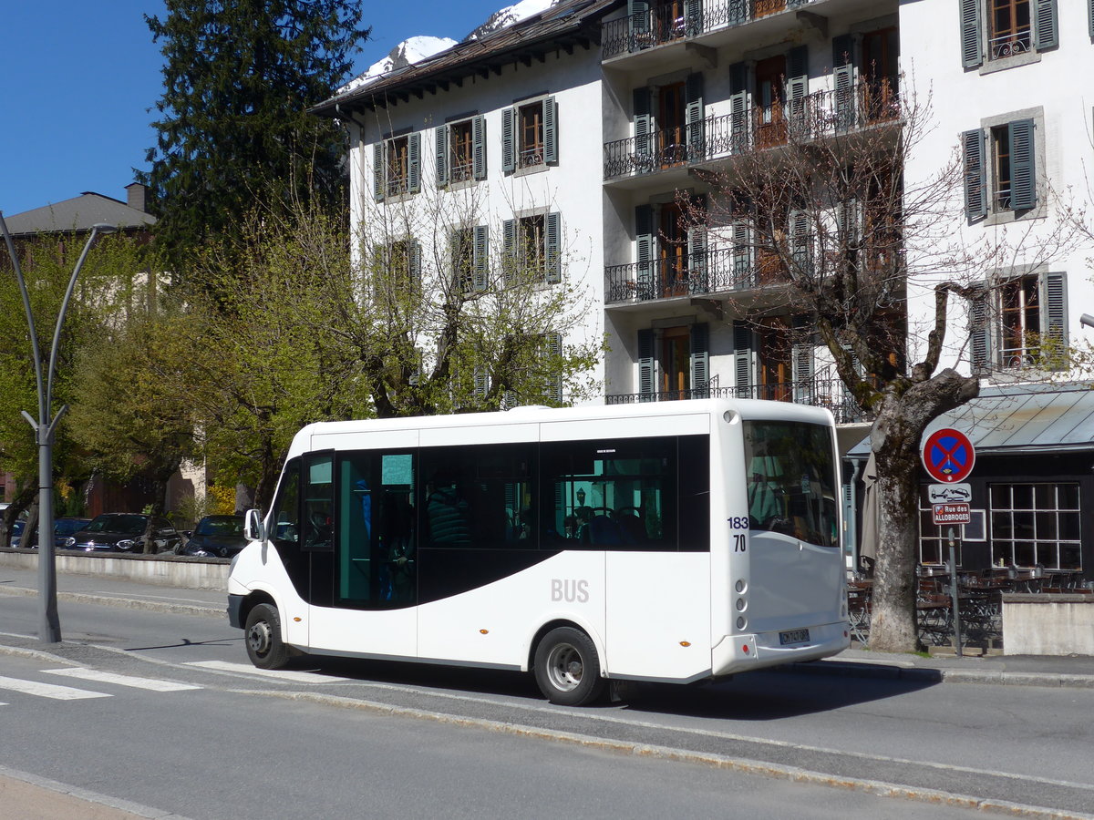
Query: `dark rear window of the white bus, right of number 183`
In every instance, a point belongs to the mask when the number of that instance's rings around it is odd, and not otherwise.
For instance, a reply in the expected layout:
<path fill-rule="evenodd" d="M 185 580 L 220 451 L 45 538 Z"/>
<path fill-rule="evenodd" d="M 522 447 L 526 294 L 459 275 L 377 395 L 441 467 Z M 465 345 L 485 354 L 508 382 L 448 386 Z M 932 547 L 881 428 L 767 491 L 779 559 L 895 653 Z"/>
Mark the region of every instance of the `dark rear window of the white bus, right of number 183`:
<path fill-rule="evenodd" d="M 821 547 L 838 541 L 831 431 L 793 421 L 746 421 L 749 527 Z"/>

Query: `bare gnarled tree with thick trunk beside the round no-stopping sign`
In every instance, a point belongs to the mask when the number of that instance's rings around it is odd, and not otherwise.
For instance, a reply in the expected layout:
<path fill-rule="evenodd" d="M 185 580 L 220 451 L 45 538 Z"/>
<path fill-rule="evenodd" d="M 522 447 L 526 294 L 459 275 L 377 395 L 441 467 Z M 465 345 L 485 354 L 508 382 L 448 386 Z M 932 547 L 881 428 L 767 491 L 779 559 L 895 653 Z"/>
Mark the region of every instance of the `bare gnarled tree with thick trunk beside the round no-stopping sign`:
<path fill-rule="evenodd" d="M 963 231 L 957 151 L 929 176 L 905 173 L 930 129 L 930 105 L 888 81 L 791 99 L 767 118 L 742 114 L 730 157 L 697 173 L 707 201 L 688 199 L 689 218 L 725 250 L 711 258 L 732 260 L 707 276 L 753 294 L 731 302 L 736 318 L 783 317 L 818 341 L 873 419 L 881 509 L 871 647 L 882 651 L 918 645 L 920 438 L 979 393 L 976 375 L 940 367 L 968 342 L 962 329 L 946 345 L 950 300 L 984 304 L 985 271 L 1015 253 L 1044 260 L 1061 241 L 1059 226 L 1036 242 L 1014 229 L 1010 237 Z"/>

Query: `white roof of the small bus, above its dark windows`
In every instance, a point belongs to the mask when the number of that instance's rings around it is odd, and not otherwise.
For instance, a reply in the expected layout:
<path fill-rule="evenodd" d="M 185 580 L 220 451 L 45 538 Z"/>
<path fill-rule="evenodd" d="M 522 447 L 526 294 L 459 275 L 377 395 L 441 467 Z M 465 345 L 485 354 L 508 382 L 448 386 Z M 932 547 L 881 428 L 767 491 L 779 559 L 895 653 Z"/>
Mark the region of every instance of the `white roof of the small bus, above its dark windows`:
<path fill-rule="evenodd" d="M 444 435 L 444 443 L 447 444 L 602 437 L 602 425 L 596 425 L 600 432 L 595 434 L 586 435 L 581 430 L 590 427 L 580 422 L 595 421 L 613 422 L 609 435 L 618 437 L 655 436 L 667 432 L 706 433 L 710 430 L 711 417 L 720 418 L 728 410 L 735 411 L 745 420 L 787 420 L 835 425 L 831 413 L 824 408 L 755 399 L 690 399 L 633 405 L 582 405 L 571 408 L 534 406 L 488 413 L 316 422 L 296 433 L 288 457 L 318 449 L 380 449 L 430 443 L 419 441 L 418 433 L 427 434 L 428 440 L 438 444 L 438 434 Z M 663 423 L 653 423 L 656 420 L 672 420 L 671 429 L 666 429 Z M 543 425 L 552 429 L 554 434 L 543 437 Z M 428 435 L 430 431 L 433 435 Z"/>

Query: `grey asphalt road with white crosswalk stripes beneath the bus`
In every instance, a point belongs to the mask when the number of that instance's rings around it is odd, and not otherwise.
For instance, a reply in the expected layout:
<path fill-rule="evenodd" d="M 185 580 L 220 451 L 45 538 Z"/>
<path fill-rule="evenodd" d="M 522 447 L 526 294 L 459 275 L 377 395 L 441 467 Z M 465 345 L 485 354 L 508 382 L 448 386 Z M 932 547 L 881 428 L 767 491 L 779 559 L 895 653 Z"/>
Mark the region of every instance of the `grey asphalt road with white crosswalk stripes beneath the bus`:
<path fill-rule="evenodd" d="M 24 647 L 0 654 L 0 676 L 110 696 L 56 701 L 0 680 L 0 765 L 161 812 L 144 816 L 966 817 L 966 805 L 1016 804 L 1080 817 L 1094 806 L 1090 689 L 758 672 L 568 710 L 510 673 L 309 658 L 294 677 L 260 675 L 226 622 L 60 606 L 66 643 L 48 657 L 26 637 L 36 601 L 0 597 L 0 644 Z"/>

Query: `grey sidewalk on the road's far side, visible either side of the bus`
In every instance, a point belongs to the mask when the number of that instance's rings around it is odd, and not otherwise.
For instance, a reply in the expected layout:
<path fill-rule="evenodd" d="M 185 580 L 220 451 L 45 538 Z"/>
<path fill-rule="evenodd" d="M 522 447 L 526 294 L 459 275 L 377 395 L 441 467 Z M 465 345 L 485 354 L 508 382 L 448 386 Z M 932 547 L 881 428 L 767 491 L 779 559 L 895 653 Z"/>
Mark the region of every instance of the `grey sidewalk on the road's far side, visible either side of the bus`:
<path fill-rule="evenodd" d="M 0 596 L 36 596 L 37 573 L 0 566 Z M 179 589 L 102 576 L 57 575 L 60 601 L 106 604 L 132 609 L 228 618 L 228 593 Z M 0 598 L 2 600 L 2 598 Z M 998 683 L 1008 686 L 1094 689 L 1091 655 L 988 655 L 923 657 L 868 649 L 846 649 L 836 657 L 791 664 L 788 672 L 857 678 L 892 678 L 918 682 Z"/>

